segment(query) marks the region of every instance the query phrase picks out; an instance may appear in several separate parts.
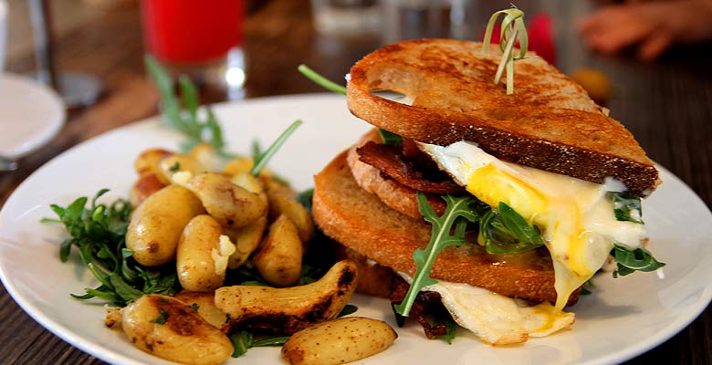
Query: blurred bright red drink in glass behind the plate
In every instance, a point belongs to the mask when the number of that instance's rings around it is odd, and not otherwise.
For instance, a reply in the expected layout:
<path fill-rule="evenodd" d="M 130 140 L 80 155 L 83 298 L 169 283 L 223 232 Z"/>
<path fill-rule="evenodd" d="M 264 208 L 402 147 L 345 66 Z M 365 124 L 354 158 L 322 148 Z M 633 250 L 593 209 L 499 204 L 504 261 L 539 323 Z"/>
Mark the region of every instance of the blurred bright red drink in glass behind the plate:
<path fill-rule="evenodd" d="M 242 40 L 243 0 L 142 0 L 149 53 L 169 64 L 225 57 Z"/>

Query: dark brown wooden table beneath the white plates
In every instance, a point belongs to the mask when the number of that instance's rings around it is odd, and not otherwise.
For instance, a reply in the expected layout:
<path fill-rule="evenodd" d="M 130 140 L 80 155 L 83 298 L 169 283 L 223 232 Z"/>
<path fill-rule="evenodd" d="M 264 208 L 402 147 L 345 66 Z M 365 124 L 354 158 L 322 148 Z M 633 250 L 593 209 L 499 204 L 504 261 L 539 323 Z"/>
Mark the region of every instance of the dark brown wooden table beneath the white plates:
<path fill-rule="evenodd" d="M 550 2 L 522 1 L 533 14 Z M 674 56 L 641 64 L 631 57 L 598 57 L 586 53 L 571 26 L 586 10 L 579 2 L 561 1 L 549 11 L 555 17 L 559 66 L 601 69 L 615 84 L 609 104 L 612 115 L 636 136 L 656 162 L 689 184 L 709 206 L 712 203 L 712 72 L 709 47 L 675 52 Z M 246 19 L 246 97 L 319 92 L 321 89 L 296 72 L 300 63 L 340 79 L 351 63 L 377 47 L 379 40 L 326 39 L 315 33 L 305 1 L 251 3 Z M 506 6 L 506 5 L 499 5 Z M 480 17 L 491 9 L 479 9 Z M 155 115 L 158 94 L 142 67 L 141 24 L 138 6 L 110 9 L 57 39 L 57 66 L 98 76 L 104 86 L 99 101 L 71 110 L 58 137 L 41 151 L 19 161 L 15 172 L 0 172 L 0 205 L 19 183 L 40 165 L 82 141 L 135 120 Z M 13 72 L 31 72 L 32 57 L 11 63 Z M 204 92 L 204 101 L 225 95 Z M 693 253 L 690 253 L 691 255 Z M 101 363 L 54 336 L 18 308 L 0 287 L 0 362 L 79 364 Z M 631 336 L 640 334 L 631 333 Z M 631 360 L 631 364 L 710 364 L 712 309 L 660 347 Z"/>

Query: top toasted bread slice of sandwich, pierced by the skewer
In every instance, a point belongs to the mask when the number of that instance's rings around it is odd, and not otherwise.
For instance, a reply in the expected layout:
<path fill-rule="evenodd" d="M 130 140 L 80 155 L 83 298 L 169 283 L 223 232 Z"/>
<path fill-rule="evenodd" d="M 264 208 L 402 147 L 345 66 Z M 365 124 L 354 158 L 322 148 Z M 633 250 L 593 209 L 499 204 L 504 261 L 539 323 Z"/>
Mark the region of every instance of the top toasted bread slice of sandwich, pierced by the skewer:
<path fill-rule="evenodd" d="M 347 100 L 361 120 L 415 141 L 473 141 L 495 157 L 592 183 L 613 177 L 654 191 L 654 163 L 621 123 L 540 57 L 515 64 L 513 95 L 494 84 L 500 54 L 482 45 L 422 39 L 383 47 L 351 68 Z M 496 47 L 492 47 L 496 48 Z M 393 90 L 413 105 L 372 94 Z"/>

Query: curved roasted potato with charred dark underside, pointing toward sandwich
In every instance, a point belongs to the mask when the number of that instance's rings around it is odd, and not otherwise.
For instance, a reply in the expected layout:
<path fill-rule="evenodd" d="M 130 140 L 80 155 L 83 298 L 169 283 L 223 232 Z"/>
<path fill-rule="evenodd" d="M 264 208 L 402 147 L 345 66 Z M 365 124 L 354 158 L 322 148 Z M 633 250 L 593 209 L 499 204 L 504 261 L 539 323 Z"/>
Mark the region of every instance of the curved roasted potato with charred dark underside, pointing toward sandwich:
<path fill-rule="evenodd" d="M 308 285 L 221 287 L 215 290 L 215 306 L 230 316 L 233 328 L 293 334 L 339 315 L 358 283 L 356 270 L 351 260 L 343 260 Z"/>

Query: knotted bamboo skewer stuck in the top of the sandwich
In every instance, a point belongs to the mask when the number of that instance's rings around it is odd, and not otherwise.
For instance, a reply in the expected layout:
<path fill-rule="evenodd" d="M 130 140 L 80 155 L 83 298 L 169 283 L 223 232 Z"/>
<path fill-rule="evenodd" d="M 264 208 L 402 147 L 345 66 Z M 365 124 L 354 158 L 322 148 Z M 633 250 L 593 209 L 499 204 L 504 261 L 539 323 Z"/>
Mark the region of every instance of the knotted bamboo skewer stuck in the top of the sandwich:
<path fill-rule="evenodd" d="M 495 76 L 495 84 L 502 79 L 502 73 L 507 69 L 507 95 L 514 94 L 514 61 L 524 59 L 527 56 L 527 48 L 529 47 L 529 37 L 527 36 L 527 28 L 524 26 L 524 12 L 512 5 L 511 9 L 500 10 L 489 17 L 485 38 L 482 41 L 482 54 L 487 55 L 489 44 L 492 40 L 492 31 L 497 18 L 504 15 L 502 26 L 499 34 L 499 49 L 502 51 L 502 60 L 499 61 L 497 67 L 497 75 Z M 512 51 L 514 43 L 519 39 L 518 55 Z"/>

